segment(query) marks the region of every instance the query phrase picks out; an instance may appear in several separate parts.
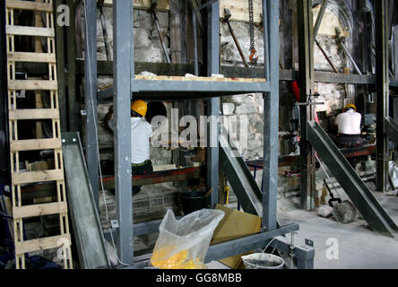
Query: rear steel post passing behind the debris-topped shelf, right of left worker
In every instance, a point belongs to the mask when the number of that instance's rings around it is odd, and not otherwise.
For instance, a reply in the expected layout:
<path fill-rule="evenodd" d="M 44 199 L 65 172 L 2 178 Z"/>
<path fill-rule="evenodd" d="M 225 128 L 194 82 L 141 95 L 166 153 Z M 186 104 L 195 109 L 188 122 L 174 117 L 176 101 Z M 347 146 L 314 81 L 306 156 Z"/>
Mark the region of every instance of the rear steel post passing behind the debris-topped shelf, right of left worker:
<path fill-rule="evenodd" d="M 207 74 L 220 74 L 220 4 L 216 1 L 208 7 L 207 24 Z M 208 100 L 208 116 L 215 119 L 211 122 L 208 135 L 207 147 L 207 188 L 213 188 L 212 204 L 215 206 L 219 202 L 219 115 L 220 98 Z"/>

